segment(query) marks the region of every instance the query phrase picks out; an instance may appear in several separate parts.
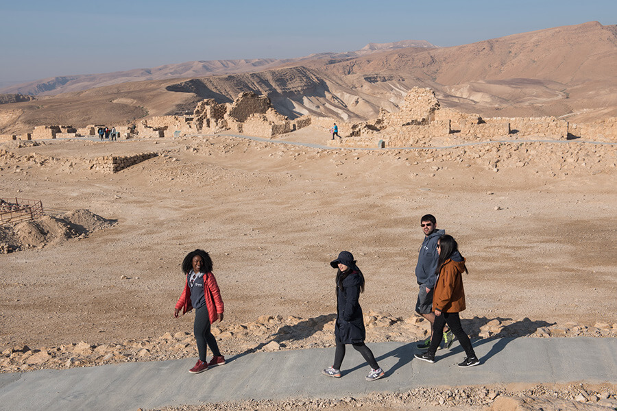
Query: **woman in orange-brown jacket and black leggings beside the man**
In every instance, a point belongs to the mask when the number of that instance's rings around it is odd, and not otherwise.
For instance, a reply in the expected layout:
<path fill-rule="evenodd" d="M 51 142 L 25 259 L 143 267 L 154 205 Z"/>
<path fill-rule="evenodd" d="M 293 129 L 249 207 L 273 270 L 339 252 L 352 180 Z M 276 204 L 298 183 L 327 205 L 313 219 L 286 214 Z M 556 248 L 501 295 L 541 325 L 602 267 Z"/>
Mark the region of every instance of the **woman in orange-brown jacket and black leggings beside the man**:
<path fill-rule="evenodd" d="M 452 236 L 445 234 L 437 241 L 437 282 L 433 294 L 433 311 L 435 323 L 433 323 L 433 338 L 428 351 L 423 354 L 415 354 L 415 358 L 426 362 L 435 362 L 435 352 L 441 344 L 444 327 L 452 330 L 461 347 L 465 350 L 465 360 L 459 363 L 460 367 L 468 367 L 480 364 L 471 341 L 463 327 L 459 312 L 465 310 L 465 290 L 463 289 L 463 273 L 467 273 L 465 258 L 459 253 L 459 245 Z"/>

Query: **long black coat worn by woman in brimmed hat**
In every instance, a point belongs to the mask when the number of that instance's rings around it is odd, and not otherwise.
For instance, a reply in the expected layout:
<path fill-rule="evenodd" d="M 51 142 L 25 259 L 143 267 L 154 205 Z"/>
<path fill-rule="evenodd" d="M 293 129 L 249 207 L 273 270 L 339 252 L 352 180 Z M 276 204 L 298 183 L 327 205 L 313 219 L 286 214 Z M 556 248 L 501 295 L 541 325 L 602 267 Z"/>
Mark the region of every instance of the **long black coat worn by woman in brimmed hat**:
<path fill-rule="evenodd" d="M 337 323 L 335 336 L 342 344 L 362 343 L 366 338 L 362 308 L 360 307 L 361 277 L 352 271 L 337 285 Z"/>

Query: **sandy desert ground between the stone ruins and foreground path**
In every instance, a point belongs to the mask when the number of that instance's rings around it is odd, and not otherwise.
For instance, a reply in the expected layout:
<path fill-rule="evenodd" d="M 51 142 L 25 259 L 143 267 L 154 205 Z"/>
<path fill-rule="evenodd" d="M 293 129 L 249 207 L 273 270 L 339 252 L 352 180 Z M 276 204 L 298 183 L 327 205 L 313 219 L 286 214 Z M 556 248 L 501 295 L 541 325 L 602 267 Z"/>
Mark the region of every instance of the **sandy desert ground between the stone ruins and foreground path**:
<path fill-rule="evenodd" d="M 56 217 L 100 217 L 86 234 L 53 240 L 49 230 L 36 237 L 2 226 L 1 371 L 195 356 L 193 314 L 174 319 L 173 306 L 182 258 L 196 248 L 213 258 L 225 301 L 215 324 L 223 353 L 332 345 L 329 262 L 342 250 L 365 273 L 361 305 L 375 322 L 367 342 L 417 340 L 427 329 L 413 314 L 426 213 L 468 259 L 461 317 L 472 336 L 617 335 L 615 145 L 284 144 L 326 138 L 307 127 L 267 142 L 203 135 L 0 145 L 0 198 L 40 199 Z M 148 151 L 158 156 L 114 174 L 84 161 Z M 90 360 L 80 360 L 80 347 Z M 42 351 L 70 353 L 28 362 Z"/>

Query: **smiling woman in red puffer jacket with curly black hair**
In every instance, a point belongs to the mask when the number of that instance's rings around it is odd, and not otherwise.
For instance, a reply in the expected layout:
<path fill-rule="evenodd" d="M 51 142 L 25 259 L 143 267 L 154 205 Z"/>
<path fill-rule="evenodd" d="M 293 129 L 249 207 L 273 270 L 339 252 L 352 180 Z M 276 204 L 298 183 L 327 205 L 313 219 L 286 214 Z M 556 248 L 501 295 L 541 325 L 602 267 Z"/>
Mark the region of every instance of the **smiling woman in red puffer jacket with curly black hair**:
<path fill-rule="evenodd" d="M 182 261 L 182 272 L 186 275 L 186 284 L 180 299 L 176 303 L 173 316 L 178 318 L 180 309 L 182 315 L 195 308 L 195 323 L 193 333 L 199 351 L 199 360 L 189 373 L 198 374 L 206 371 L 208 366 L 223 365 L 225 358 L 221 356 L 216 338 L 210 332 L 210 325 L 215 321 L 223 321 L 223 299 L 221 291 L 212 273 L 212 260 L 204 250 L 191 251 Z M 213 358 L 206 362 L 206 345 L 212 350 Z"/>

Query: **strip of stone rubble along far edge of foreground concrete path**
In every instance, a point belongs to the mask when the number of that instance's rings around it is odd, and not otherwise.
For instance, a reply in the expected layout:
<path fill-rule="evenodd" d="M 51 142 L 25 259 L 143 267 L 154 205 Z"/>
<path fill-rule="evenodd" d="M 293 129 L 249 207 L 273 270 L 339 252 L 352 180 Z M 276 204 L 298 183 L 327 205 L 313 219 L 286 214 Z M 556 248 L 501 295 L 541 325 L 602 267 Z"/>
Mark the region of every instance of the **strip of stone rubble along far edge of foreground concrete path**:
<path fill-rule="evenodd" d="M 406 319 L 387 313 L 367 312 L 364 316 L 367 341 L 370 343 L 409 342 L 426 338 L 429 323 L 419 316 Z M 302 319 L 298 316 L 263 315 L 252 323 L 215 323 L 212 332 L 226 356 L 256 351 L 280 351 L 334 347 L 335 314 Z M 463 327 L 472 339 L 503 337 L 617 337 L 617 323 L 548 324 L 530 319 L 463 319 Z M 197 356 L 195 338 L 190 332 L 166 332 L 158 338 L 125 340 L 115 343 L 79 343 L 60 347 L 27 345 L 12 347 L 0 355 L 0 372 L 23 372 L 36 369 L 65 369 L 119 362 L 161 361 Z"/>

